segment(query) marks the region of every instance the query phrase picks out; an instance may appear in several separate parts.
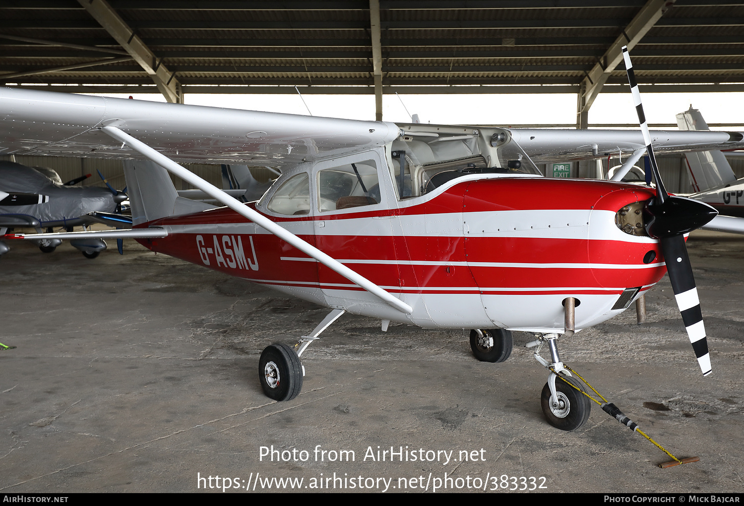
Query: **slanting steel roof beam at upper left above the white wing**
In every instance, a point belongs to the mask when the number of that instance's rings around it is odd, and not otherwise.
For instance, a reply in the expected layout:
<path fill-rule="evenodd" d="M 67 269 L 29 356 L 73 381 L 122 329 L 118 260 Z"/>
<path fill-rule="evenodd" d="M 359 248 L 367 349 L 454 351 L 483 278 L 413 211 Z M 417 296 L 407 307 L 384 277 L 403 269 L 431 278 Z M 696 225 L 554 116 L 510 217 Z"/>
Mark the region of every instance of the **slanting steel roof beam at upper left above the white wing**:
<path fill-rule="evenodd" d="M 165 65 L 162 65 L 163 60 L 158 59 L 155 53 L 150 51 L 150 48 L 142 42 L 106 0 L 77 1 L 147 72 L 165 100 L 171 103 L 183 103 L 181 83 L 176 80 L 175 72 L 170 72 Z"/>

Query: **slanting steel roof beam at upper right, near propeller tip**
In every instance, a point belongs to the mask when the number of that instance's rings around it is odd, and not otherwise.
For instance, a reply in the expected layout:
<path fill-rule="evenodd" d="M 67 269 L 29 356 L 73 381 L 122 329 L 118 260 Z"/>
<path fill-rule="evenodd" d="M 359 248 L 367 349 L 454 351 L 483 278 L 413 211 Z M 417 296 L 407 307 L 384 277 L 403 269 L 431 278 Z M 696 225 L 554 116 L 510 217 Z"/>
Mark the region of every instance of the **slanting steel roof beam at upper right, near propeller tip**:
<path fill-rule="evenodd" d="M 648 0 L 644 7 L 632 21 L 622 30 L 620 36 L 605 51 L 599 61 L 594 64 L 591 71 L 586 73 L 586 77 L 581 81 L 580 91 L 577 98 L 576 126 L 577 129 L 586 129 L 589 124 L 589 108 L 597 94 L 602 90 L 602 86 L 615 70 L 615 67 L 623 60 L 623 46 L 627 46 L 629 51 L 643 39 L 644 35 L 655 25 L 655 23 L 664 15 L 664 12 L 674 3 L 675 0 Z"/>

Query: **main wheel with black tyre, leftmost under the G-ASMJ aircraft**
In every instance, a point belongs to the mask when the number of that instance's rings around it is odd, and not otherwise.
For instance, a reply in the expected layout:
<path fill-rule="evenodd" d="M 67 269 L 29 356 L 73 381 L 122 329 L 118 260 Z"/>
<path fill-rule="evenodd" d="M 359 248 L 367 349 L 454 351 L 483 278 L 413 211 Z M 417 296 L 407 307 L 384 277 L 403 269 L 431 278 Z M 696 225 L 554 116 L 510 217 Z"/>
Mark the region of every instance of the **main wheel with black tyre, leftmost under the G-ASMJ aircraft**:
<path fill-rule="evenodd" d="M 258 361 L 258 379 L 263 393 L 274 400 L 292 400 L 302 389 L 302 363 L 292 346 L 266 346 Z"/>

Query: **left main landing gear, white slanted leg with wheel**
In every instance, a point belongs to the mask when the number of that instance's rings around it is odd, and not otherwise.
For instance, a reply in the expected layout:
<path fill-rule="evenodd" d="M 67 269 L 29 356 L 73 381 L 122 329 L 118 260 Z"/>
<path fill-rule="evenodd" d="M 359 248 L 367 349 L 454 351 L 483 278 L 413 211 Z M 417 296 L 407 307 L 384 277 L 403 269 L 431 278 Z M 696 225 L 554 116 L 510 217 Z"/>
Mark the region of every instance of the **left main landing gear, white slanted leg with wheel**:
<path fill-rule="evenodd" d="M 309 336 L 301 337 L 295 346 L 274 343 L 264 348 L 258 361 L 258 380 L 267 397 L 281 401 L 299 395 L 305 376 L 305 366 L 300 361 L 302 352 L 345 312 L 344 309 L 331 311 Z"/>

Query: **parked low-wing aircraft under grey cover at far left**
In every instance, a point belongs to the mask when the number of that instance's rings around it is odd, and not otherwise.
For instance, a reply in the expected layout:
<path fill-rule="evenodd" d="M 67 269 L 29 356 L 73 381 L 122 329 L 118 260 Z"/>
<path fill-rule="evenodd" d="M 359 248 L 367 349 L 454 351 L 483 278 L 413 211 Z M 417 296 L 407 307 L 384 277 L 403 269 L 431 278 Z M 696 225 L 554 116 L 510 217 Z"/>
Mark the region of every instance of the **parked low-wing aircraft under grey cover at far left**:
<path fill-rule="evenodd" d="M 96 216 L 114 213 L 126 194 L 97 186 L 73 186 L 89 176 L 63 184 L 54 170 L 0 161 L 0 234 L 21 227 L 35 228 L 38 232 L 51 231 L 54 227 L 72 230 L 101 221 Z M 62 240 L 42 238 L 36 242 L 44 253 L 51 253 Z M 106 242 L 94 237 L 73 239 L 71 244 L 89 259 L 106 249 Z M 9 250 L 0 241 L 0 256 Z"/>

